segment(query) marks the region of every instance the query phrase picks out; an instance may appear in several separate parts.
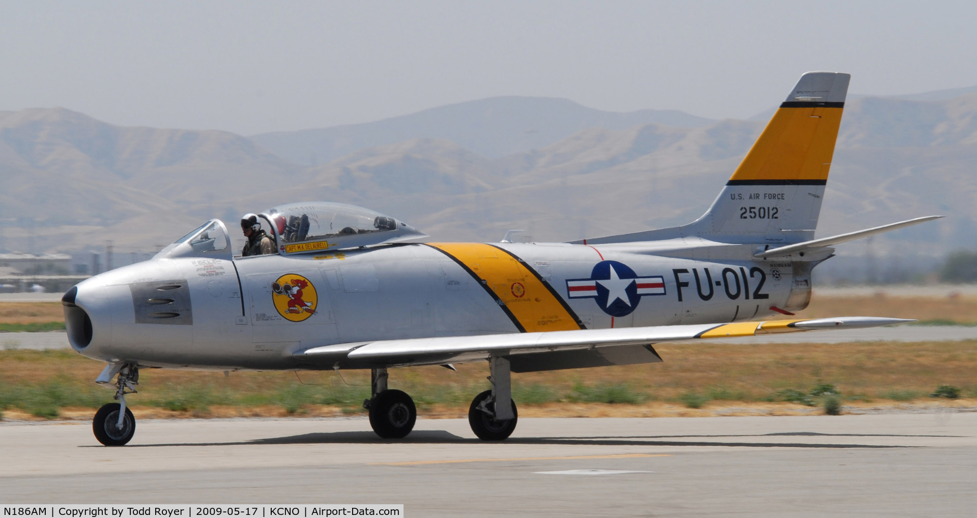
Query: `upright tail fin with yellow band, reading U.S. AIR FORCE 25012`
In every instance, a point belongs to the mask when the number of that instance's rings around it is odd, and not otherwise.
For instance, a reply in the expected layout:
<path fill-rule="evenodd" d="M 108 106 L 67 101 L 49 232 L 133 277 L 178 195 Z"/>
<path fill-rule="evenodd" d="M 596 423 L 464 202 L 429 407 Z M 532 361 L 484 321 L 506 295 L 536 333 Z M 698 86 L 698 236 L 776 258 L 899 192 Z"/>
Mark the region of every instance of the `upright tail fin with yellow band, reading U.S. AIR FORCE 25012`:
<path fill-rule="evenodd" d="M 840 72 L 802 75 L 712 206 L 695 222 L 585 242 L 695 236 L 791 244 L 812 239 L 850 78 Z"/>

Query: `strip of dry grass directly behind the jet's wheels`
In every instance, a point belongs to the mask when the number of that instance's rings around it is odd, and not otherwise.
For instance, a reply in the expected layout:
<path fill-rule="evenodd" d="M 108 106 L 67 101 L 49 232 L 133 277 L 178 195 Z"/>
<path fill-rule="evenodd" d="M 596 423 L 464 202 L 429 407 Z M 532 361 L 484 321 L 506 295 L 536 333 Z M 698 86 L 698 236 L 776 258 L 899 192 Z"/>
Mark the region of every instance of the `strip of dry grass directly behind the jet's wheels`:
<path fill-rule="evenodd" d="M 820 409 L 780 401 L 833 384 L 845 405 L 971 405 L 933 400 L 938 385 L 977 397 L 977 340 L 848 344 L 658 344 L 663 364 L 514 374 L 522 415 L 661 416 L 802 414 Z M 92 380 L 103 366 L 67 351 L 0 352 L 0 407 L 8 416 L 91 415 L 111 401 Z M 398 368 L 391 386 L 411 394 L 422 415 L 464 415 L 488 388 L 485 364 Z M 337 415 L 361 413 L 368 374 L 144 369 L 130 403 L 144 416 Z M 345 378 L 345 380 L 344 380 Z M 693 398 L 694 397 L 694 398 Z M 701 403 L 691 409 L 690 398 Z M 608 402 L 619 404 L 608 404 Z M 969 402 L 969 403 L 967 403 Z M 71 410 L 75 408 L 75 410 Z"/>

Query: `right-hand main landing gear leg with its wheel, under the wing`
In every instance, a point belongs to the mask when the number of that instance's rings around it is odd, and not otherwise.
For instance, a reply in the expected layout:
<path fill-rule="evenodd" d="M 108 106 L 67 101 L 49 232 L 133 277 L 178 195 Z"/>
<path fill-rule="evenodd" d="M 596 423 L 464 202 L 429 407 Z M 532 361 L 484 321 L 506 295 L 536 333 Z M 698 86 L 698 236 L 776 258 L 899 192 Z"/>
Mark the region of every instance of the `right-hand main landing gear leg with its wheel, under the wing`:
<path fill-rule="evenodd" d="M 501 357 L 488 360 L 491 375 L 491 390 L 487 390 L 472 401 L 468 409 L 468 424 L 475 435 L 483 441 L 502 441 L 516 429 L 519 414 L 516 402 L 512 401 L 512 383 L 509 361 Z"/>

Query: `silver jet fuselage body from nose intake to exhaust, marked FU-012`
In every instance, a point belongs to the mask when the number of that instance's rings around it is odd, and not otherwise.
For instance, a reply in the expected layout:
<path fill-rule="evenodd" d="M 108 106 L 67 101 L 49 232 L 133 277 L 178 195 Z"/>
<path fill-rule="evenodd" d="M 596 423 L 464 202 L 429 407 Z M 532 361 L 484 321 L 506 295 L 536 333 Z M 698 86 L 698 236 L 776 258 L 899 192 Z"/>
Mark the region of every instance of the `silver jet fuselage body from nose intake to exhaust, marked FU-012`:
<path fill-rule="evenodd" d="M 756 260 L 751 245 L 688 241 L 472 243 L 481 248 L 473 248 L 476 258 L 467 265 L 427 244 L 298 256 L 159 257 L 79 283 L 74 304 L 90 319 L 90 331 L 72 326 L 80 317 L 69 315 L 69 336 L 76 351 L 109 363 L 361 368 L 368 366 L 304 365 L 294 355 L 330 344 L 547 330 L 556 321 L 539 314 L 546 312 L 546 300 L 565 308 L 575 328 L 735 322 L 770 316 L 771 307 L 807 305 L 811 263 Z M 497 250 L 499 257 L 479 259 L 485 250 Z M 478 272 L 480 263 L 513 258 L 525 267 L 523 278 Z M 608 261 L 616 262 L 615 277 L 626 265 L 636 282 L 650 280 L 634 285 L 654 286 L 635 297 L 628 284 L 629 295 L 616 300 L 618 316 L 608 309 L 613 291 L 602 298 L 606 291 L 597 288 L 609 281 L 589 281 L 595 266 Z M 285 283 L 289 276 L 315 289 L 314 312 L 302 313 L 301 303 L 289 307 L 301 322 L 285 318 L 284 306 L 276 308 L 276 280 Z M 505 300 L 490 288 L 507 291 Z M 566 319 L 561 322 L 560 329 L 569 328 Z"/>

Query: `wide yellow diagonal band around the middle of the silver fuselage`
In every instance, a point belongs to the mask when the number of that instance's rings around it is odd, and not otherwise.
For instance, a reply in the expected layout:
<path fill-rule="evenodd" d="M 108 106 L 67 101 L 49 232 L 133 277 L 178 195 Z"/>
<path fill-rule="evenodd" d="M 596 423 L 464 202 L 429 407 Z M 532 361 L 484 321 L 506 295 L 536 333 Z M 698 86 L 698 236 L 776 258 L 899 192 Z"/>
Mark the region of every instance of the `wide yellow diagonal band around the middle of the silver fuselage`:
<path fill-rule="evenodd" d="M 550 287 L 515 257 L 490 244 L 429 242 L 469 272 L 502 302 L 527 332 L 579 329 L 574 316 Z"/>

